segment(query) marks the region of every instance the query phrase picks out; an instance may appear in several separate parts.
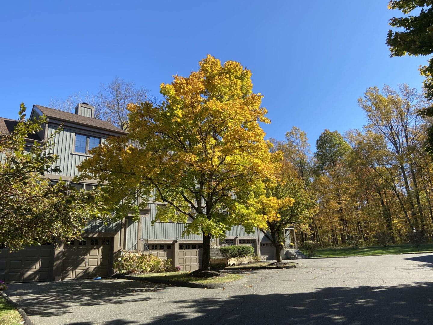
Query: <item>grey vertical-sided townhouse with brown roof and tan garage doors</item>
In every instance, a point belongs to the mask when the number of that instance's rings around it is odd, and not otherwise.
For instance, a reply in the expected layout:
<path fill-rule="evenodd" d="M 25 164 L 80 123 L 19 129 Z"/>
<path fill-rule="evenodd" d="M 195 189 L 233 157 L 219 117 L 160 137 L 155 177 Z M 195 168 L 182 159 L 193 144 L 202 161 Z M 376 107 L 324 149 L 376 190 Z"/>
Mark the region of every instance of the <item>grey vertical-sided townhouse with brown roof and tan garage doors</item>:
<path fill-rule="evenodd" d="M 74 183 L 77 166 L 90 156 L 88 151 L 94 146 L 104 143 L 109 136 L 123 136 L 126 132 L 94 118 L 94 107 L 87 103 L 78 104 L 74 113 L 33 105 L 30 117 L 42 114 L 48 121 L 38 134 L 31 136 L 29 143 L 47 139 L 63 124 L 61 132 L 55 135 L 54 146 L 62 172 L 45 176 L 52 182 L 61 178 L 76 188 L 97 185 L 94 180 Z M 16 123 L 16 120 L 0 118 L 1 133 L 10 133 Z M 182 270 L 197 270 L 201 266 L 202 237 L 195 234 L 182 236 L 185 228 L 182 223 L 156 221 L 152 225 L 161 204 L 149 201 L 147 208 L 140 211 L 138 222 L 132 222 L 132 217 L 110 224 L 93 221 L 85 227 L 83 240 L 74 240 L 70 244 L 46 243 L 14 253 L 7 248 L 0 249 L 0 280 L 10 283 L 110 276 L 115 259 L 127 251 L 147 251 L 162 259 L 172 259 Z M 291 241 L 296 243 L 295 231 L 293 228 L 286 231 L 286 247 L 289 247 Z M 258 229 L 247 234 L 243 227 L 235 226 L 227 231 L 226 238 L 213 241 L 215 250 L 226 245 L 250 245 L 263 260 L 275 259 L 274 247 Z"/>

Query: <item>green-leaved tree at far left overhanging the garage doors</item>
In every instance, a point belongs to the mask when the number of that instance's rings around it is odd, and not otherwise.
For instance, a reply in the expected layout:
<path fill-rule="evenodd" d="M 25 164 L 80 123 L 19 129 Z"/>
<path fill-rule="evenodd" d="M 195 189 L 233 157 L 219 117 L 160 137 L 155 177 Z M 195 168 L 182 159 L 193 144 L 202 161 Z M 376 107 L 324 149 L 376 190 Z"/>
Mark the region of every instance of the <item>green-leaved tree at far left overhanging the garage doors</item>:
<path fill-rule="evenodd" d="M 44 177 L 60 169 L 52 139 L 29 143 L 29 135 L 42 130 L 43 123 L 45 117 L 26 119 L 21 104 L 13 132 L 0 135 L 0 247 L 18 250 L 76 238 L 88 221 L 103 217 L 98 189 L 76 191 Z"/>

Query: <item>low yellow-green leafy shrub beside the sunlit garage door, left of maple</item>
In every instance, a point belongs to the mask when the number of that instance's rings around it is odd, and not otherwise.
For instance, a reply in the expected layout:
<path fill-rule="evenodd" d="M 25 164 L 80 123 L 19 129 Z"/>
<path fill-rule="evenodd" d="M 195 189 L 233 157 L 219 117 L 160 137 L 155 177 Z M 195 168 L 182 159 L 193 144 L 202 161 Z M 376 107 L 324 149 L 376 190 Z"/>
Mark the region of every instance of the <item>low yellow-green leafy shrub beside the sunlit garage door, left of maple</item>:
<path fill-rule="evenodd" d="M 171 259 L 161 260 L 152 254 L 127 252 L 113 264 L 116 272 L 122 274 L 143 272 L 169 272 L 173 270 Z"/>

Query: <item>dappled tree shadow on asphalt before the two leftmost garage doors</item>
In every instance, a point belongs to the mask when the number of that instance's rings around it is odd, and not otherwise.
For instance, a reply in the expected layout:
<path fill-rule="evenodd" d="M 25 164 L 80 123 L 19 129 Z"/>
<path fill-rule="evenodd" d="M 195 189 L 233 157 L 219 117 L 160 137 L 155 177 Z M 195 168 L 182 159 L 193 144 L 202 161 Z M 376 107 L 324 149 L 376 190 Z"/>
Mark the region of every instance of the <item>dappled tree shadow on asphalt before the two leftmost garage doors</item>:
<path fill-rule="evenodd" d="M 143 296 L 143 293 L 158 293 L 167 287 L 155 283 L 119 279 L 104 279 L 99 281 L 69 280 L 60 282 L 13 283 L 10 284 L 6 293 L 29 316 L 56 316 L 71 313 L 70 309 L 73 305 L 97 306 L 145 302 L 151 298 Z M 20 302 L 20 298 L 25 298 L 25 301 Z M 157 297 L 152 299 L 157 299 Z"/>

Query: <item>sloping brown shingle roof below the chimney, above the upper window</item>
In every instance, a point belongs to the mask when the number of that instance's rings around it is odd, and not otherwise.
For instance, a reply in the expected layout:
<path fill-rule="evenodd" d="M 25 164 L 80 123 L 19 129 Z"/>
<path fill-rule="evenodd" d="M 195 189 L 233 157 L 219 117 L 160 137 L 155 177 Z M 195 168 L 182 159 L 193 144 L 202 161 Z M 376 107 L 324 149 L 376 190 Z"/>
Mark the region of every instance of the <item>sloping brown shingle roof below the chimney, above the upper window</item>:
<path fill-rule="evenodd" d="M 38 108 L 48 118 L 52 117 L 55 118 L 56 120 L 61 120 L 64 122 L 72 122 L 84 126 L 96 127 L 98 129 L 110 130 L 116 133 L 128 134 L 128 132 L 118 127 L 115 127 L 113 124 L 107 121 L 98 120 L 92 117 L 85 117 L 78 114 L 73 114 L 73 113 L 65 112 L 63 110 L 55 110 L 54 108 L 49 108 L 41 105 L 34 105 L 34 106 Z"/>

